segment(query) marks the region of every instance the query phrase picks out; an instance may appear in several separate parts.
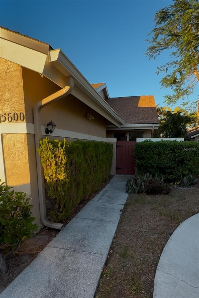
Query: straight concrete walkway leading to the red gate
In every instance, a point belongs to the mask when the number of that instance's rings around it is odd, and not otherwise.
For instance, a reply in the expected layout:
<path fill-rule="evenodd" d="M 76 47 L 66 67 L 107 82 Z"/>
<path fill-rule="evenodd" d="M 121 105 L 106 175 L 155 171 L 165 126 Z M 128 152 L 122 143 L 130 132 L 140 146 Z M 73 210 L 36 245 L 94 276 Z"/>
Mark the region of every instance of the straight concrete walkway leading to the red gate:
<path fill-rule="evenodd" d="M 94 297 L 128 196 L 127 177 L 114 176 L 0 298 Z"/>

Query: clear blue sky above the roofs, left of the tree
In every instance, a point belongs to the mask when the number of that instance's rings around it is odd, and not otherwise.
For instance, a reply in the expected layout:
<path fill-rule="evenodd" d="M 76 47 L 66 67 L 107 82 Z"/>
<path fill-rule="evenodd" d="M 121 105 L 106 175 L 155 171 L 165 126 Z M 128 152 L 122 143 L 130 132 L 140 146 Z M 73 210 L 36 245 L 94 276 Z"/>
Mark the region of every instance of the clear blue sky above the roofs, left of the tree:
<path fill-rule="evenodd" d="M 156 67 L 144 55 L 155 12 L 172 1 L 1 1 L 0 24 L 61 48 L 90 83 L 106 82 L 110 97 L 155 95 L 163 104 Z M 195 88 L 189 100 L 199 94 Z M 179 104 L 179 103 L 178 103 Z M 176 106 L 176 105 L 175 105 Z"/>

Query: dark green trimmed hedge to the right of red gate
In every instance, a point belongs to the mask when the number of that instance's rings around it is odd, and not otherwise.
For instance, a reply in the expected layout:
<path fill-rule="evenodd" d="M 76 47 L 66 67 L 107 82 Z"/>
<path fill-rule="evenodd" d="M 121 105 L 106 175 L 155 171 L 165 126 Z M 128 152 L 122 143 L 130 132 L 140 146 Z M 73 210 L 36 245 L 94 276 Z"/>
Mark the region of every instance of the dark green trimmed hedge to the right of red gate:
<path fill-rule="evenodd" d="M 135 145 L 137 173 L 149 173 L 176 182 L 189 172 L 199 176 L 199 143 L 191 141 L 152 142 L 146 140 Z"/>

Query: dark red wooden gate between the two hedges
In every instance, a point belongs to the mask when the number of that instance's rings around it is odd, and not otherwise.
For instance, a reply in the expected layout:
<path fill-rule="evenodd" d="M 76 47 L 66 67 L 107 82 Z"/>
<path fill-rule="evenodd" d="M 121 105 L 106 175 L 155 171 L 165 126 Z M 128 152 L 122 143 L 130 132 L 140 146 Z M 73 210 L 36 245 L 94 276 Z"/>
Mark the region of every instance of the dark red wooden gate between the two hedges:
<path fill-rule="evenodd" d="M 135 174 L 135 159 L 133 154 L 135 144 L 135 141 L 117 141 L 116 174 Z"/>

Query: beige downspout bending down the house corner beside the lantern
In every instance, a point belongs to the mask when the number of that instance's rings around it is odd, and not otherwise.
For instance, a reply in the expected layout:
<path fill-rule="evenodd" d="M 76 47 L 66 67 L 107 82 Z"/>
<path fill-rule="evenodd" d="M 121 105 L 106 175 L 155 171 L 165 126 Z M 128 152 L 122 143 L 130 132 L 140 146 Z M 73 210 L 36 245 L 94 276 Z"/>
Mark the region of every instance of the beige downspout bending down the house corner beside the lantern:
<path fill-rule="evenodd" d="M 58 222 L 50 222 L 46 217 L 46 204 L 45 204 L 45 188 L 44 188 L 44 175 L 41 167 L 41 160 L 38 155 L 37 149 L 39 148 L 39 140 L 42 137 L 41 133 L 41 118 L 40 118 L 40 111 L 42 108 L 46 107 L 47 105 L 55 102 L 62 97 L 67 96 L 71 93 L 73 89 L 74 81 L 72 77 L 67 78 L 67 86 L 63 89 L 55 92 L 54 94 L 44 98 L 43 100 L 39 101 L 34 109 L 33 109 L 33 116 L 34 116 L 34 126 L 35 126 L 35 153 L 36 153 L 36 163 L 37 163 L 37 180 L 38 180 L 38 191 L 39 191 L 39 212 L 40 212 L 40 219 L 44 226 L 51 227 L 53 229 L 61 230 L 63 224 Z"/>

